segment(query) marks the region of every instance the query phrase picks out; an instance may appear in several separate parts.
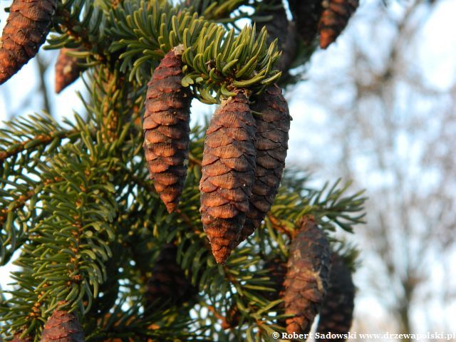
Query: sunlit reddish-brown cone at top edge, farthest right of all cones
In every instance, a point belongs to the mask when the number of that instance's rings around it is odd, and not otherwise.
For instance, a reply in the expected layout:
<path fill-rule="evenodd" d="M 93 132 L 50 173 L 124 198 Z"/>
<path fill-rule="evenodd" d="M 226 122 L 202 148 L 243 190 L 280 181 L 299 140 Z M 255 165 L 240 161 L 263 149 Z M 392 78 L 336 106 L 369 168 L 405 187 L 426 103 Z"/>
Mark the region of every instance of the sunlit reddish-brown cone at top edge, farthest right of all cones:
<path fill-rule="evenodd" d="M 348 19 L 358 7 L 358 0 L 325 0 L 324 11 L 318 23 L 320 47 L 327 48 L 341 34 Z"/>

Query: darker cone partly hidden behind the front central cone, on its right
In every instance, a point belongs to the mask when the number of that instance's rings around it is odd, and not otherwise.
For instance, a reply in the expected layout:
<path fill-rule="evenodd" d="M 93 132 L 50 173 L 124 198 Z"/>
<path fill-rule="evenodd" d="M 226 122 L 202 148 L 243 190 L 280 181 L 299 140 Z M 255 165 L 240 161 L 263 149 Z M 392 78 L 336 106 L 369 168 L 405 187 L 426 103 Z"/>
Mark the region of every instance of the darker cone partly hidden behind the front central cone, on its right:
<path fill-rule="evenodd" d="M 255 118 L 255 181 L 239 243 L 259 227 L 277 195 L 285 167 L 291 121 L 288 104 L 281 94 L 281 88 L 275 85 L 267 88 L 256 99 L 252 110 L 262 113 L 262 116 Z"/>

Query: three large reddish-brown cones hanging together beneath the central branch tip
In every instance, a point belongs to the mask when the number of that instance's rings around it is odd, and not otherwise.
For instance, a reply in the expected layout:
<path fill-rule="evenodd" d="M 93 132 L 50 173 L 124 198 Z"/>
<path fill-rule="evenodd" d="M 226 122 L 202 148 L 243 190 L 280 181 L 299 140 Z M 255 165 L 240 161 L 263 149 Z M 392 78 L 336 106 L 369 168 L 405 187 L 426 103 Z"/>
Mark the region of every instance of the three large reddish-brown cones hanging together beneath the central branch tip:
<path fill-rule="evenodd" d="M 182 86 L 183 76 L 177 47 L 155 69 L 145 102 L 147 167 L 168 212 L 176 210 L 187 175 L 192 95 Z M 218 263 L 269 211 L 284 170 L 291 120 L 278 86 L 257 97 L 242 89 L 234 93 L 207 129 L 199 183 L 201 220 Z"/>

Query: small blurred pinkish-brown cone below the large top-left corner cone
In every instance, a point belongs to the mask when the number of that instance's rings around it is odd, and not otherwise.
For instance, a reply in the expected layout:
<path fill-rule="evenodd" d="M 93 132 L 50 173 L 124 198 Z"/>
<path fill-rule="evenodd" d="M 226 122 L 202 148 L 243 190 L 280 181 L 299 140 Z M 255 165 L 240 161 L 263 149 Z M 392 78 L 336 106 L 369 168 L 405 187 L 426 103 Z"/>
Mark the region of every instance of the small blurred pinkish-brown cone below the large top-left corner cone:
<path fill-rule="evenodd" d="M 79 77 L 79 73 L 83 71 L 81 66 L 78 66 L 78 58 L 70 57 L 66 53 L 68 51 L 78 51 L 77 48 L 62 48 L 58 53 L 56 62 L 56 93 L 61 93 L 63 89 L 71 85 Z"/>

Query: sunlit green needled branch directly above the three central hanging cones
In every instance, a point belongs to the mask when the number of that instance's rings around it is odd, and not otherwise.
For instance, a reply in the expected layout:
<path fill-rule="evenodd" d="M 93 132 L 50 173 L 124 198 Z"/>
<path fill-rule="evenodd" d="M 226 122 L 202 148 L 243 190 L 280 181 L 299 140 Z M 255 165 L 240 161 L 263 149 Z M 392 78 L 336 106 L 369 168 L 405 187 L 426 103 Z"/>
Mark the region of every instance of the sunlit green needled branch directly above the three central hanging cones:
<path fill-rule="evenodd" d="M 110 51 L 126 51 L 120 54 L 120 70 L 129 73 L 130 81 L 148 81 L 151 61 L 180 45 L 186 73 L 182 85 L 192 86 L 204 103 L 217 103 L 220 96 L 233 95 L 234 88 L 260 91 L 281 75 L 273 69 L 280 53 L 275 42 L 266 46 L 266 31 L 255 38 L 254 28 L 246 27 L 235 37 L 234 29 L 156 0 L 151 6 L 127 1 L 113 11 L 112 21 L 111 35 L 122 38 L 113 41 Z"/>

